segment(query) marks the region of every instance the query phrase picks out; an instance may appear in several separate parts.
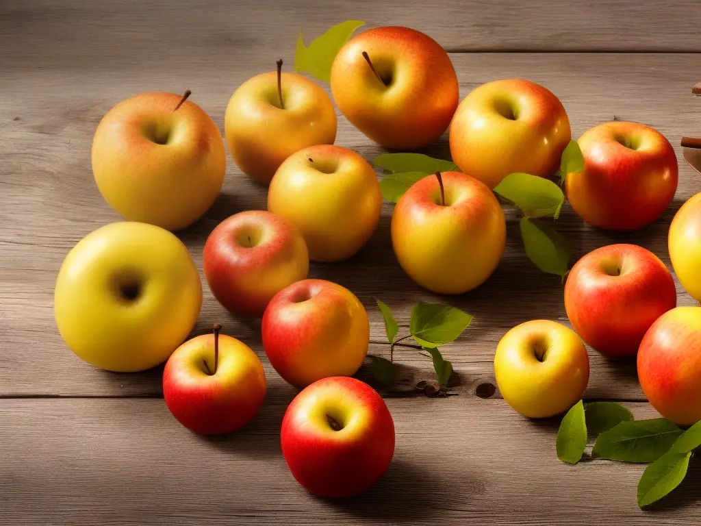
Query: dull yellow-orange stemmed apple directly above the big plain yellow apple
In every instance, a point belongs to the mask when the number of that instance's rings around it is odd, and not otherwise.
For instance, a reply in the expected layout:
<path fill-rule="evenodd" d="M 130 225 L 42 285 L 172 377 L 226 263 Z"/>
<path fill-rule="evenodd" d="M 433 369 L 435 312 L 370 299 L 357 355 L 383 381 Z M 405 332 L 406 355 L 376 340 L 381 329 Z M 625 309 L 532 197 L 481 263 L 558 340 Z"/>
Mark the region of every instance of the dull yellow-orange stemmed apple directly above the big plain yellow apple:
<path fill-rule="evenodd" d="M 226 151 L 219 128 L 202 108 L 174 93 L 141 93 L 119 102 L 93 138 L 100 194 L 135 222 L 180 230 L 219 196 Z"/>

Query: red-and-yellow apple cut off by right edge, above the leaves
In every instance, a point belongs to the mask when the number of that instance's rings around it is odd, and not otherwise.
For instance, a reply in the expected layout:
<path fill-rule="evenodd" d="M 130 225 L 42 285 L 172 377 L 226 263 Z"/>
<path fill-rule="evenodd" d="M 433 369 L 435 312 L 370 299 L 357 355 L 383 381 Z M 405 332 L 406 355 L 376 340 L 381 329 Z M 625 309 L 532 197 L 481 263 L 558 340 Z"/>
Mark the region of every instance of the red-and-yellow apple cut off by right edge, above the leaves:
<path fill-rule="evenodd" d="M 679 306 L 653 323 L 638 350 L 638 379 L 666 419 L 701 420 L 701 307 Z"/>

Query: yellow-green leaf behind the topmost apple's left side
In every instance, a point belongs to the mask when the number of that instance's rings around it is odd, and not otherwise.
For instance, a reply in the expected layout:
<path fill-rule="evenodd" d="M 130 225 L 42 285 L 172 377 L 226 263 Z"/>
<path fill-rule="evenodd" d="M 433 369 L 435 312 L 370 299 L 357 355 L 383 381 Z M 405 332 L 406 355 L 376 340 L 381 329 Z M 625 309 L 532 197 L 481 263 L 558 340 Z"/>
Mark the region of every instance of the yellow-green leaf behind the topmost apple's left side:
<path fill-rule="evenodd" d="M 321 81 L 331 80 L 331 66 L 351 35 L 358 27 L 365 25 L 360 20 L 346 20 L 334 25 L 327 32 L 304 45 L 304 31 L 299 32 L 297 50 L 294 53 L 294 70 L 306 72 Z"/>

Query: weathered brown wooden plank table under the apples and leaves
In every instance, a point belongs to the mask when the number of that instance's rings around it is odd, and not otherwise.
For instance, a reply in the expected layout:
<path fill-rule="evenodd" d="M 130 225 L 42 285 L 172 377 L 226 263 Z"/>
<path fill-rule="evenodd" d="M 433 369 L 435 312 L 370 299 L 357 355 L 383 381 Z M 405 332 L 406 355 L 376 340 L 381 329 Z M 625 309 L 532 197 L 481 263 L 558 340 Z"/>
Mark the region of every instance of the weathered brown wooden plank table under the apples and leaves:
<path fill-rule="evenodd" d="M 461 96 L 486 81 L 543 83 L 564 103 L 573 136 L 597 123 L 641 121 L 674 144 L 674 203 L 634 234 L 592 229 L 566 206 L 559 227 L 574 256 L 613 242 L 638 243 L 669 264 L 666 235 L 681 203 L 701 190 L 682 161 L 681 135 L 701 135 L 701 5 L 698 0 L 2 0 L 0 1 L 0 523 L 7 525 L 244 524 L 698 524 L 701 469 L 648 511 L 635 502 L 644 466 L 608 461 L 567 466 L 554 452 L 558 421 L 529 422 L 501 400 L 477 396 L 494 384 L 492 359 L 506 330 L 531 318 L 569 324 L 562 283 L 540 273 L 508 212 L 508 248 L 482 288 L 435 297 L 411 283 L 390 245 L 392 205 L 353 259 L 313 265 L 311 276 L 351 288 L 367 306 L 372 336 L 383 326 L 373 297 L 408 319 L 417 301 L 450 302 L 475 315 L 444 356 L 459 396 L 408 396 L 433 378 L 428 360 L 397 353 L 395 392 L 385 393 L 397 450 L 367 494 L 327 501 L 294 482 L 280 455 L 279 425 L 292 387 L 264 358 L 259 323 L 229 316 L 205 283 L 195 334 L 212 323 L 263 358 L 268 396 L 259 417 L 233 436 L 195 436 L 170 416 L 161 369 L 117 375 L 81 362 L 53 321 L 62 259 L 88 232 L 120 220 L 97 192 L 90 142 L 119 100 L 147 90 L 182 93 L 223 133 L 226 103 L 240 83 L 292 64 L 307 39 L 342 20 L 407 25 L 451 54 Z M 327 86 L 326 86 L 327 87 Z M 339 114 L 336 144 L 372 161 L 381 149 Z M 428 149 L 449 154 L 444 137 Z M 205 237 L 225 217 L 265 208 L 266 192 L 227 159 L 222 196 L 179 234 L 201 271 Z M 694 304 L 678 285 L 679 304 Z M 379 353 L 375 347 L 371 352 Z M 590 351 L 585 397 L 620 400 L 636 417 L 656 413 L 634 362 Z M 366 375 L 362 370 L 360 375 Z M 479 392 L 489 393 L 482 387 Z"/>

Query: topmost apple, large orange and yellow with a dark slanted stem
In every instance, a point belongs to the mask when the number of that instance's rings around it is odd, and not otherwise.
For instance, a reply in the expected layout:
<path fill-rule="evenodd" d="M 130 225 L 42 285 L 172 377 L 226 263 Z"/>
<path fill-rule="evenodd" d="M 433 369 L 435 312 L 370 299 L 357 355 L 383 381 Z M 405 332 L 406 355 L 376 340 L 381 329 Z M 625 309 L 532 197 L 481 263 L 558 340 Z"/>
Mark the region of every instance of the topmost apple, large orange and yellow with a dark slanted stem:
<path fill-rule="evenodd" d="M 349 40 L 331 68 L 331 92 L 346 119 L 383 147 L 435 142 L 458 107 L 458 77 L 430 36 L 376 27 Z"/>

